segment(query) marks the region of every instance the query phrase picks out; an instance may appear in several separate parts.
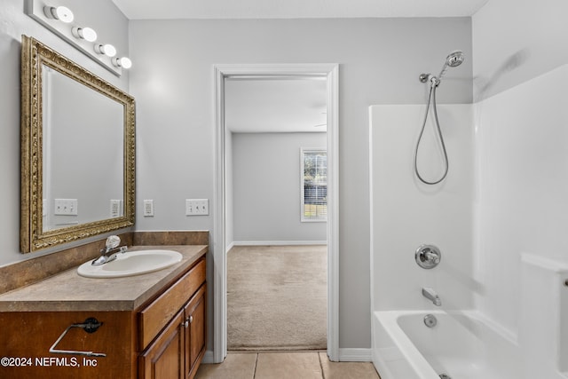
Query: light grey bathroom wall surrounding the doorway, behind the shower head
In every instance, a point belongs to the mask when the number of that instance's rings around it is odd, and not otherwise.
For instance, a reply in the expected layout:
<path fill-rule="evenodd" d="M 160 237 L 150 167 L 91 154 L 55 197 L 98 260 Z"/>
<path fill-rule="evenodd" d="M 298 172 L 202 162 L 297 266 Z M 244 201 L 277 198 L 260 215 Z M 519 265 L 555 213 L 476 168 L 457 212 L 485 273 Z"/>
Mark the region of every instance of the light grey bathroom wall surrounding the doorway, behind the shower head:
<path fill-rule="evenodd" d="M 184 216 L 184 199 L 213 198 L 214 64 L 339 63 L 340 347 L 370 347 L 367 109 L 422 104 L 418 75 L 449 51 L 471 57 L 470 28 L 469 18 L 131 21 L 138 199 L 156 206 L 137 229 L 213 231 L 211 216 Z M 439 100 L 470 103 L 471 59 L 455 73 Z"/>

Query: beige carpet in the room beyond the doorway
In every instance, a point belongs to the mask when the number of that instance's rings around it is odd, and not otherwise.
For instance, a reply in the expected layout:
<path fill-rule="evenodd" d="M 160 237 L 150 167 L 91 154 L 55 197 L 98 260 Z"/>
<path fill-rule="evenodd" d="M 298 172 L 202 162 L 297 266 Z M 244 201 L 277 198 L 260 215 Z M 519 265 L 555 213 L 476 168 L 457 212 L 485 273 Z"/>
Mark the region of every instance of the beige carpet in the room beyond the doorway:
<path fill-rule="evenodd" d="M 326 246 L 237 246 L 227 253 L 229 350 L 326 349 L 326 329 Z"/>

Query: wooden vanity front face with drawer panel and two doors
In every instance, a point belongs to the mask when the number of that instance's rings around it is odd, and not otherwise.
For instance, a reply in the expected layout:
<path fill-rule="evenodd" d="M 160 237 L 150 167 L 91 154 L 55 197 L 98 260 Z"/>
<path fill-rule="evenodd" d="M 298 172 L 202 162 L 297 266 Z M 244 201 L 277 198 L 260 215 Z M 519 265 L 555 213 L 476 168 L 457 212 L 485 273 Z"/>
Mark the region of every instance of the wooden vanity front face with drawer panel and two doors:
<path fill-rule="evenodd" d="M 139 379 L 193 378 L 205 354 L 205 261 L 139 312 Z"/>

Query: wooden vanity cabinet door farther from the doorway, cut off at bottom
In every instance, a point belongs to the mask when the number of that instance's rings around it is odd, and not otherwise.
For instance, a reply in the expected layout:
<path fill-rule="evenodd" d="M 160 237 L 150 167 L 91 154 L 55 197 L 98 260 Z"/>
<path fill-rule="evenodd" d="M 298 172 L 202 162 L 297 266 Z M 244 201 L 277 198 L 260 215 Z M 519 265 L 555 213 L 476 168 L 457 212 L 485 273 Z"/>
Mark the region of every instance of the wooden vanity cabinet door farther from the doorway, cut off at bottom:
<path fill-rule="evenodd" d="M 184 312 L 180 311 L 138 359 L 140 379 L 184 377 Z"/>

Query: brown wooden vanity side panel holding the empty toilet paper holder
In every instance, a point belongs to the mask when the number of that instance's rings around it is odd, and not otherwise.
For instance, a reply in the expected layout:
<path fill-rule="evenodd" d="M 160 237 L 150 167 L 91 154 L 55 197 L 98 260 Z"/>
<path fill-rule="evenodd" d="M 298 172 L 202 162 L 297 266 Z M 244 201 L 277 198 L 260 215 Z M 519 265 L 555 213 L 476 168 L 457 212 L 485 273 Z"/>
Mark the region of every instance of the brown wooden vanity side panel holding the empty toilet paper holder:
<path fill-rule="evenodd" d="M 106 357 L 53 354 L 51 345 L 71 324 L 95 318 L 94 333 L 71 328 L 59 350 L 94 351 Z M 132 312 L 0 312 L 0 378 L 92 379 L 137 377 L 136 324 Z"/>

